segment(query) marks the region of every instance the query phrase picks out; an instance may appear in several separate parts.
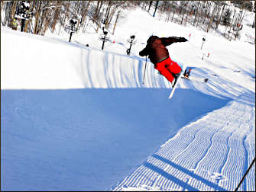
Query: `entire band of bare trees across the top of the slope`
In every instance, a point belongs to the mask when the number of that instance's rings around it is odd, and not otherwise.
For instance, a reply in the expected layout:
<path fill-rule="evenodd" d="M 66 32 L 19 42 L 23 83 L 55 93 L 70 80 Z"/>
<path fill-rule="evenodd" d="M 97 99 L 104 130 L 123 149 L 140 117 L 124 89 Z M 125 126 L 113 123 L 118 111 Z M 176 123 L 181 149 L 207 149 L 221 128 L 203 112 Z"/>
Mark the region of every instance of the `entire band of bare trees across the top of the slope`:
<path fill-rule="evenodd" d="M 47 30 L 57 33 L 66 27 L 70 19 L 76 19 L 79 31 L 86 31 L 92 24 L 95 31 L 104 24 L 105 29 L 115 33 L 116 25 L 125 17 L 124 11 L 140 6 L 166 22 L 192 24 L 206 32 L 225 26 L 228 40 L 238 36 L 246 11 L 254 11 L 255 2 L 230 1 L 28 1 L 31 18 L 24 21 L 24 32 L 44 35 Z M 22 2 L 1 1 L 2 25 L 11 27 Z M 235 6 L 234 6 L 235 5 Z M 19 19 L 18 19 L 19 20 Z M 251 27 L 255 27 L 255 16 Z M 59 31 L 60 33 L 60 31 Z"/>

